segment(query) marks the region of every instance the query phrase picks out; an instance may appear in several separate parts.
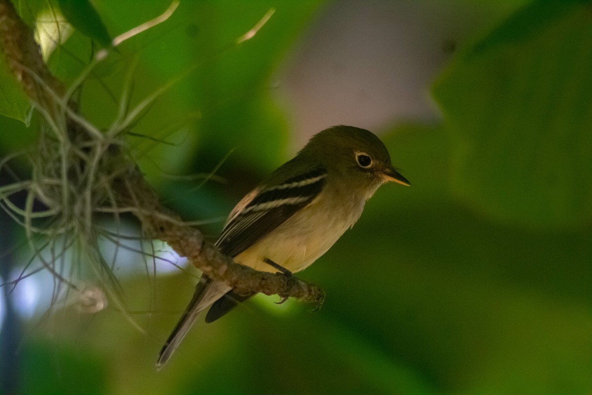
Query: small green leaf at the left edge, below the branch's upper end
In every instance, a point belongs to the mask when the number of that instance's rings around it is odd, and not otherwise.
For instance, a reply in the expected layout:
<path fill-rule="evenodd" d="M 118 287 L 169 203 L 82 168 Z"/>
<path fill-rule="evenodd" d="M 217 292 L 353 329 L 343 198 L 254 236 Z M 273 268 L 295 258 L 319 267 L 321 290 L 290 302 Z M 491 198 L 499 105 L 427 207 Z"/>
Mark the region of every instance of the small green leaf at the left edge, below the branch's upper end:
<path fill-rule="evenodd" d="M 0 114 L 20 120 L 29 126 L 30 108 L 27 95 L 8 69 L 4 52 L 0 51 Z"/>

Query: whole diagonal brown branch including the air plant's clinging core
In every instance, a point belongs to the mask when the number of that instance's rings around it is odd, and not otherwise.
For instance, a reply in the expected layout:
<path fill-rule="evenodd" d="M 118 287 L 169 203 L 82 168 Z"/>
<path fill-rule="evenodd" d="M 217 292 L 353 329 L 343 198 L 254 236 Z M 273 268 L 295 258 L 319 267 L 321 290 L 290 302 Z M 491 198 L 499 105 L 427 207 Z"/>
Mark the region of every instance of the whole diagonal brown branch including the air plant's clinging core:
<path fill-rule="evenodd" d="M 144 236 L 165 241 L 179 255 L 186 256 L 193 265 L 211 277 L 226 282 L 237 293 L 255 291 L 294 297 L 318 305 L 322 303 L 324 293 L 317 285 L 295 277 L 258 272 L 236 264 L 215 246 L 205 242 L 199 230 L 188 226 L 178 214 L 164 207 L 156 191 L 130 159 L 126 144 L 118 140 L 120 137 L 91 133 L 88 125 L 82 122 L 82 117 L 72 108 L 75 106 L 65 108 L 65 101 L 62 100 L 65 89 L 62 82 L 47 69 L 39 46 L 34 41 L 33 31 L 18 17 L 9 0 L 0 0 L 0 49 L 23 91 L 36 103 L 46 120 L 67 129 L 63 136 L 66 136 L 66 143 L 71 148 L 68 152 L 62 149 L 65 152 L 62 158 L 96 158 L 92 159 L 92 163 L 67 163 L 67 166 L 62 166 L 66 169 L 63 174 L 67 177 L 62 178 L 62 182 L 68 182 L 73 187 L 53 187 L 51 193 L 46 194 L 47 201 L 60 201 L 60 197 L 56 196 L 60 190 L 83 191 L 84 194 L 79 197 L 92 203 L 95 208 L 94 211 L 87 208 L 83 213 L 100 211 L 98 208 L 101 204 L 116 204 L 115 211 L 129 211 L 140 220 Z M 69 152 L 74 152 L 75 155 L 70 155 Z M 71 177 L 75 179 L 70 179 Z M 81 182 L 82 179 L 84 182 Z M 89 182 L 93 180 L 98 184 L 90 185 Z M 97 195 L 97 191 L 100 194 Z M 89 196 L 91 193 L 95 195 Z M 66 210 L 66 206 L 61 204 L 60 210 Z M 78 213 L 69 215 L 77 217 Z M 87 220 L 92 221 L 92 218 Z"/>

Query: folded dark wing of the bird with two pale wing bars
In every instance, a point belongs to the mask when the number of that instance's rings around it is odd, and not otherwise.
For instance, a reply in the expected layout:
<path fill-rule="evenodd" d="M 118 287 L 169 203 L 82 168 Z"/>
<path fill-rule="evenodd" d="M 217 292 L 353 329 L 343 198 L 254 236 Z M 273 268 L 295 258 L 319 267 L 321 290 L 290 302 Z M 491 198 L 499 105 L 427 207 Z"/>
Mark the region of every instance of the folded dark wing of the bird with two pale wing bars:
<path fill-rule="evenodd" d="M 226 255 L 239 255 L 310 204 L 326 178 L 327 170 L 317 167 L 279 185 L 256 188 L 230 213 L 216 246 Z"/>

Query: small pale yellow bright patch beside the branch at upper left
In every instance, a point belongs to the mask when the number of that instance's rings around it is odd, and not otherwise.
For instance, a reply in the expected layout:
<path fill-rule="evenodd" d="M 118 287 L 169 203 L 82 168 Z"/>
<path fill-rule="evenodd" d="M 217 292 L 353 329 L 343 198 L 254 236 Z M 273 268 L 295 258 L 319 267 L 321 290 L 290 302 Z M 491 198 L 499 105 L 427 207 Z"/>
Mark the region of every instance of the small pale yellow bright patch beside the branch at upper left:
<path fill-rule="evenodd" d="M 44 9 L 37 15 L 36 21 L 37 41 L 41 46 L 43 60 L 47 62 L 53 50 L 59 44 L 63 44 L 74 31 L 72 25 L 66 22 L 66 18 L 57 9 Z"/>

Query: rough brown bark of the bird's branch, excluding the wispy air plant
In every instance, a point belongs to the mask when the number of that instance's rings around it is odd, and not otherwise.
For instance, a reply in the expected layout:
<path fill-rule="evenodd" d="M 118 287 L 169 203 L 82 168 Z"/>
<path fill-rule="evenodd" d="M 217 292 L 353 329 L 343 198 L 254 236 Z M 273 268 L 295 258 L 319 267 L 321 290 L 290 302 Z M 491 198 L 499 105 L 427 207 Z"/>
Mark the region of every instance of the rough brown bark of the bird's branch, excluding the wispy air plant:
<path fill-rule="evenodd" d="M 61 97 L 65 92 L 63 84 L 47 69 L 39 46 L 34 41 L 33 31 L 20 19 L 9 0 L 0 0 L 0 46 L 11 72 L 28 97 L 41 110 L 45 110 L 49 117 L 63 117 L 64 111 L 57 111 L 60 104 L 54 96 L 47 94 L 49 88 L 57 97 Z M 80 138 L 85 130 L 72 117 L 66 120 L 66 125 L 67 135 L 71 136 L 70 144 L 85 144 L 88 147 L 88 139 L 92 136 L 86 133 L 86 136 Z M 324 300 L 324 292 L 317 285 L 295 277 L 259 272 L 239 265 L 220 253 L 215 246 L 205 242 L 197 229 L 184 224 L 178 214 L 160 203 L 156 191 L 147 184 L 135 164 L 128 159 L 126 152 L 119 148 L 124 147 L 124 144 L 113 142 L 110 147 L 104 153 L 111 158 L 102 161 L 107 163 L 106 166 L 118 164 L 118 171 L 115 172 L 117 176 L 106 178 L 111 179 L 110 190 L 114 192 L 114 200 L 121 206 L 130 207 L 131 212 L 141 221 L 145 236 L 167 242 L 198 269 L 226 282 L 239 294 L 252 291 L 266 295 L 278 294 L 281 297 L 314 302 L 320 306 Z M 107 169 L 105 174 L 114 173 Z"/>

